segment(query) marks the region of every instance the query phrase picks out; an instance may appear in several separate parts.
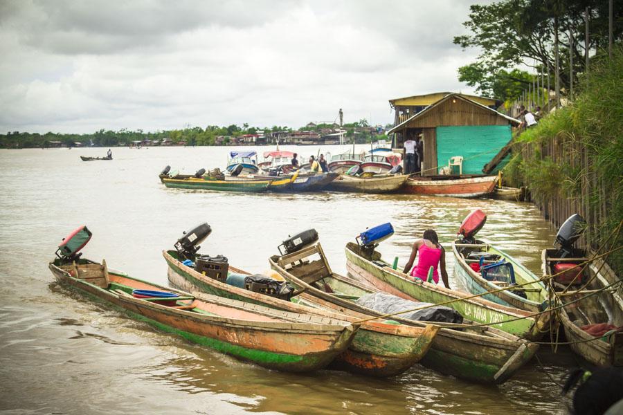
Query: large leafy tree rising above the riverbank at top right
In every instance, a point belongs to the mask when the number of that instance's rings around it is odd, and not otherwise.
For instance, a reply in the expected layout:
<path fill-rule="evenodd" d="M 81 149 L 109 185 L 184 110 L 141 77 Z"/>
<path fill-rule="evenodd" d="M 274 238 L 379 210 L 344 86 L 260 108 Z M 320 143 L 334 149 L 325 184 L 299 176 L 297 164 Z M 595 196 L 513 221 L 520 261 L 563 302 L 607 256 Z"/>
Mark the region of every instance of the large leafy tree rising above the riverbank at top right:
<path fill-rule="evenodd" d="M 476 62 L 459 69 L 460 77 L 478 85 L 479 91 L 492 91 L 491 83 L 500 71 L 519 65 L 532 68 L 554 68 L 554 37 L 559 35 L 560 56 L 572 49 L 577 66 L 584 62 L 584 10 L 590 10 L 589 50 L 608 44 L 608 2 L 603 0 L 502 0 L 488 5 L 470 6 L 469 21 L 464 22 L 470 35 L 454 38 L 462 48 L 480 48 Z M 623 16 L 623 2 L 615 1 L 614 19 Z M 615 25 L 614 38 L 623 39 L 623 26 Z M 569 84 L 566 59 L 561 59 L 561 87 Z M 510 78 L 507 78 L 510 79 Z M 521 82 L 521 81 L 520 81 Z M 480 86 L 482 85 L 482 88 Z"/>

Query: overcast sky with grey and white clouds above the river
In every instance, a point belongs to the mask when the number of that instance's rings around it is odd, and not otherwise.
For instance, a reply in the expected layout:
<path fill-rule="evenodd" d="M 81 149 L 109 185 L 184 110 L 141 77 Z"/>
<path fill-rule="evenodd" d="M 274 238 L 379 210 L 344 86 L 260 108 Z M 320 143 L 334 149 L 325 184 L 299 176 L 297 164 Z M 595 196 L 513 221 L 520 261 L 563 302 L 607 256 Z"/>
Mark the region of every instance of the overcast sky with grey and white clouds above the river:
<path fill-rule="evenodd" d="M 0 0 L 0 131 L 392 121 L 472 92 L 452 44 L 478 0 Z"/>

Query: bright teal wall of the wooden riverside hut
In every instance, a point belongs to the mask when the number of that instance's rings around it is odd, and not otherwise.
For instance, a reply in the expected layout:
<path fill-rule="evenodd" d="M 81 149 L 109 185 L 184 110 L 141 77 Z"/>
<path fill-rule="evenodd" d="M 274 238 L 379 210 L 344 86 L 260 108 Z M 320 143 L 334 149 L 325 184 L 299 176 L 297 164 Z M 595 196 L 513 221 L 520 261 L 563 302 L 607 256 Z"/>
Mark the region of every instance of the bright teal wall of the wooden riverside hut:
<path fill-rule="evenodd" d="M 463 174 L 482 174 L 482 167 L 510 141 L 510 125 L 437 127 L 437 165 L 463 156 Z M 455 167 L 458 173 L 458 167 Z"/>

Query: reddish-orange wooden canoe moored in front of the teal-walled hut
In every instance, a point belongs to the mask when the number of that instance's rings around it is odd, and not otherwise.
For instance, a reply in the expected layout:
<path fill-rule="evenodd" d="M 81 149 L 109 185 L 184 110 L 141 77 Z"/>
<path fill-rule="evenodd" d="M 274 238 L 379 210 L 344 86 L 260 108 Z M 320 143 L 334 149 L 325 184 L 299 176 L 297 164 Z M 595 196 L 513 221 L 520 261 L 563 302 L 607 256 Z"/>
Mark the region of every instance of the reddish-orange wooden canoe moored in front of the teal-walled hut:
<path fill-rule="evenodd" d="M 476 198 L 494 191 L 498 176 L 410 176 L 405 193 Z"/>

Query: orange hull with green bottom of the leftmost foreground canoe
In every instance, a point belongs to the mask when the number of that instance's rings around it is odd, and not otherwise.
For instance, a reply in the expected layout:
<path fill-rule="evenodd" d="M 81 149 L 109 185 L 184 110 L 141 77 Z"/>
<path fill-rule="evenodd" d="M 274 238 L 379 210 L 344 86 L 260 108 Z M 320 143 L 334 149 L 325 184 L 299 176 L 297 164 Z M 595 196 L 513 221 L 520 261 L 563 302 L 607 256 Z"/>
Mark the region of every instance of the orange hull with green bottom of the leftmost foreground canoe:
<path fill-rule="evenodd" d="M 348 347 L 354 335 L 352 326 L 314 330 L 314 324 L 245 323 L 241 320 L 181 311 L 153 302 L 116 295 L 89 284 L 84 279 L 71 277 L 53 263 L 50 264 L 50 269 L 61 284 L 75 288 L 89 297 L 109 302 L 137 320 L 269 369 L 295 372 L 323 369 Z M 114 273 L 110 275 L 115 282 L 127 282 L 136 288 L 170 291 L 170 288 L 141 282 L 125 275 Z M 181 293 L 181 295 L 188 294 Z M 316 327 L 321 326 L 318 324 Z"/>

